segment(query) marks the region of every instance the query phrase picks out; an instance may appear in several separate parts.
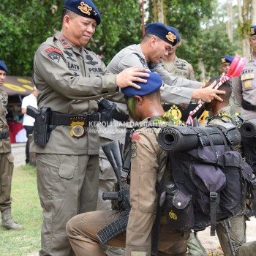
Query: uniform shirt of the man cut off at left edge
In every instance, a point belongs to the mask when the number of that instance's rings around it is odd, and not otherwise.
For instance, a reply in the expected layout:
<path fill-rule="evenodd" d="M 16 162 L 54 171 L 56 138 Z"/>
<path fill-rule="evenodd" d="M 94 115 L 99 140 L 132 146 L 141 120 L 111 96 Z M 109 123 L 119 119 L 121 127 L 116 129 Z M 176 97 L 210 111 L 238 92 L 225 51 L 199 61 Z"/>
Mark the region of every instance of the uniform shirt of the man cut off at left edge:
<path fill-rule="evenodd" d="M 7 92 L 0 89 L 0 132 L 7 132 L 9 130 L 7 124 L 7 104 L 8 95 Z M 10 137 L 0 140 L 0 153 L 7 153 L 11 151 Z"/>

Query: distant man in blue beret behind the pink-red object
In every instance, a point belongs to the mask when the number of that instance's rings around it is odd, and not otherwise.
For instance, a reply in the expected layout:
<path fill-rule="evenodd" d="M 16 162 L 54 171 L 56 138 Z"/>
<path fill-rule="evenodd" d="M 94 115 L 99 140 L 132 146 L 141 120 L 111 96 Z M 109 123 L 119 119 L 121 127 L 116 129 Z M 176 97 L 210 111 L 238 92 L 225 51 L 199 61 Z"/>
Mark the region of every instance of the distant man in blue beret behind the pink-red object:
<path fill-rule="evenodd" d="M 227 74 L 227 70 L 230 69 L 230 64 L 233 61 L 234 57 L 233 56 L 229 56 L 229 55 L 225 55 L 225 56 L 221 56 L 220 57 L 220 67 L 219 70 L 222 73 Z M 231 80 L 230 80 L 231 81 Z M 239 106 L 238 102 L 236 102 L 236 99 L 234 97 L 233 91 L 230 97 L 230 110 L 231 110 L 231 114 L 232 115 L 236 115 L 239 116 L 241 115 L 241 107 Z"/>

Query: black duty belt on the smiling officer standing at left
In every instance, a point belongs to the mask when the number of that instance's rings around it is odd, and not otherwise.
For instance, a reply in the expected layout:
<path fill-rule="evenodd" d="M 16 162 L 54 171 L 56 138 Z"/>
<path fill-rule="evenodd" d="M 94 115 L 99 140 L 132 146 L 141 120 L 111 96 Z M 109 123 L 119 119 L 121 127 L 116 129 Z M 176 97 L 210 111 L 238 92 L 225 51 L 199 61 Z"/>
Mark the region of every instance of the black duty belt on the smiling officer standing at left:
<path fill-rule="evenodd" d="M 91 123 L 99 121 L 99 113 L 86 114 L 86 115 L 68 115 L 61 113 L 51 113 L 48 124 L 52 125 L 70 125 L 72 121 L 83 121 L 86 127 L 89 127 Z"/>

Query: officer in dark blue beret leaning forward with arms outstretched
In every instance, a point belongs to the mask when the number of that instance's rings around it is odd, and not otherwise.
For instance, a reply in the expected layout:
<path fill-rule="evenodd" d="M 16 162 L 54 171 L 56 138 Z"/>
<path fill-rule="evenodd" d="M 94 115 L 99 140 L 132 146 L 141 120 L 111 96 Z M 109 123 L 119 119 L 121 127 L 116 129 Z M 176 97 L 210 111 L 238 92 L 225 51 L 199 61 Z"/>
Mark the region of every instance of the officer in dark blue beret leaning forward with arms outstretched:
<path fill-rule="evenodd" d="M 177 77 L 162 67 L 159 62 L 177 42 L 176 31 L 170 26 L 160 22 L 149 23 L 140 44 L 129 45 L 119 51 L 108 64 L 108 69 L 118 74 L 125 68 L 136 65 L 157 72 L 165 83 L 165 90 L 161 93 L 162 102 L 165 103 L 188 105 L 193 99 L 211 102 L 214 98 L 222 101 L 217 94 L 225 94 L 225 91 L 213 90 L 214 85 L 200 89 L 202 83 Z"/>

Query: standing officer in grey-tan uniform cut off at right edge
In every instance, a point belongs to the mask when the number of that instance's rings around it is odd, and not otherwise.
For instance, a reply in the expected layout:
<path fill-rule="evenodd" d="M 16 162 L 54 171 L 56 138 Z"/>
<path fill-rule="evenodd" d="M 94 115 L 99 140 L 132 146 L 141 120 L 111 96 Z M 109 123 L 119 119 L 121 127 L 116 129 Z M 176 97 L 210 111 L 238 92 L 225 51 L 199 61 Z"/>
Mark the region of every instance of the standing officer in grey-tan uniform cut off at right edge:
<path fill-rule="evenodd" d="M 246 57 L 241 75 L 232 80 L 234 96 L 246 119 L 256 118 L 256 25 L 250 27 L 249 44 L 252 53 Z"/>

